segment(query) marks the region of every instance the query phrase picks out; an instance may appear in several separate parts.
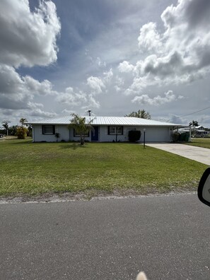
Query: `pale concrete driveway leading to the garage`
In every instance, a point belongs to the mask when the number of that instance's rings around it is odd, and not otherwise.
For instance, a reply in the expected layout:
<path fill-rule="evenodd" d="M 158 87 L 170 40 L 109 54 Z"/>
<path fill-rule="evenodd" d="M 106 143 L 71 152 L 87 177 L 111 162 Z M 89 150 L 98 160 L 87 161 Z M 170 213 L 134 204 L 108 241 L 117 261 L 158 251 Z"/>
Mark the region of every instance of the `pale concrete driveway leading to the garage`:
<path fill-rule="evenodd" d="M 196 146 L 174 143 L 151 143 L 146 144 L 146 146 L 159 148 L 163 151 L 175 153 L 176 155 L 189 158 L 193 161 L 199 161 L 199 163 L 210 165 L 210 148 L 200 148 Z"/>

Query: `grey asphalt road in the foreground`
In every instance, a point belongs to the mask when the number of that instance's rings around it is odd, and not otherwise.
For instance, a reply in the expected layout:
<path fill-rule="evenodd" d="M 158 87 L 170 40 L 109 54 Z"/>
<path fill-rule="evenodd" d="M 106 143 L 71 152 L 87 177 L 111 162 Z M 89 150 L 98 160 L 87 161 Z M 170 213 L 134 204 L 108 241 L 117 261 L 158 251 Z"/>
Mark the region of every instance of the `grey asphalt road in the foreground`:
<path fill-rule="evenodd" d="M 0 205 L 0 279 L 210 279 L 195 194 Z"/>

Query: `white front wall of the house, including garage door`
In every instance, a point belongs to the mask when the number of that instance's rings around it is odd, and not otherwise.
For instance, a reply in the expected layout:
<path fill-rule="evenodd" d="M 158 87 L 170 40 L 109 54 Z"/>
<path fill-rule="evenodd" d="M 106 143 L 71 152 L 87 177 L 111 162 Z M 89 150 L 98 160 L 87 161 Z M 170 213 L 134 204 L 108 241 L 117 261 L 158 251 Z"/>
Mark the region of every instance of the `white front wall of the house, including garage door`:
<path fill-rule="evenodd" d="M 117 135 L 117 141 L 129 141 L 128 133 L 129 130 L 140 130 L 141 139 L 140 142 L 144 141 L 144 128 L 146 129 L 145 139 L 146 142 L 170 142 L 172 141 L 171 134 L 173 132 L 173 127 L 128 127 L 123 126 L 123 135 Z M 74 130 L 68 129 L 67 125 L 55 125 L 55 132 L 60 134 L 58 141 L 80 141 L 79 137 L 74 137 Z M 116 135 L 108 135 L 107 125 L 98 126 L 98 141 L 99 142 L 112 142 L 116 141 Z M 47 142 L 56 142 L 57 138 L 54 135 L 42 134 L 42 125 L 34 124 L 33 125 L 33 141 L 47 141 Z M 91 132 L 90 136 L 86 137 L 86 141 L 91 141 Z"/>

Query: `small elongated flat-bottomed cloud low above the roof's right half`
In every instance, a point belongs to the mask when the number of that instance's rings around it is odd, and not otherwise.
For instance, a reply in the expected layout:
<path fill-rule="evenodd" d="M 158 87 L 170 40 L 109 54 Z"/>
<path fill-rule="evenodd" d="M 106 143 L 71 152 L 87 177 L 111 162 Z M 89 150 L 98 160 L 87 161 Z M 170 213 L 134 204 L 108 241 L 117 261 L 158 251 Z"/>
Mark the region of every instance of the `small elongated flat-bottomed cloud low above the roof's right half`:
<path fill-rule="evenodd" d="M 173 101 L 182 99 L 183 96 L 179 95 L 176 96 L 173 91 L 168 91 L 167 93 L 164 93 L 164 96 L 161 97 L 161 95 L 157 95 L 154 98 L 150 98 L 147 94 L 135 96 L 132 100 L 132 103 L 139 103 L 142 105 L 148 104 L 148 105 L 163 105 L 165 103 L 171 103 Z"/>

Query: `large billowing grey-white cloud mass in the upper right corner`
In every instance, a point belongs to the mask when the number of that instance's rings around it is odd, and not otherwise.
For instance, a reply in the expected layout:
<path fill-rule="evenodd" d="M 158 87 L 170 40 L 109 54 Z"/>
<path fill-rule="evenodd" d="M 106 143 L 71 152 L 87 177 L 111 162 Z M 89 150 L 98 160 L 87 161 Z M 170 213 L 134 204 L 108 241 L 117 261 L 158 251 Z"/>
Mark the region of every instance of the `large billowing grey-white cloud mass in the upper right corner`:
<path fill-rule="evenodd" d="M 210 71 L 209 14 L 209 1 L 180 0 L 177 6 L 168 6 L 163 11 L 162 33 L 158 32 L 156 23 L 143 25 L 138 41 L 145 58 L 136 61 L 135 66 L 127 61 L 118 66 L 119 72 L 134 74 L 126 92 L 137 93 L 148 86 L 192 83 L 204 78 Z"/>

